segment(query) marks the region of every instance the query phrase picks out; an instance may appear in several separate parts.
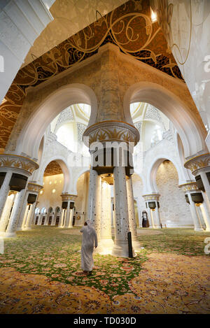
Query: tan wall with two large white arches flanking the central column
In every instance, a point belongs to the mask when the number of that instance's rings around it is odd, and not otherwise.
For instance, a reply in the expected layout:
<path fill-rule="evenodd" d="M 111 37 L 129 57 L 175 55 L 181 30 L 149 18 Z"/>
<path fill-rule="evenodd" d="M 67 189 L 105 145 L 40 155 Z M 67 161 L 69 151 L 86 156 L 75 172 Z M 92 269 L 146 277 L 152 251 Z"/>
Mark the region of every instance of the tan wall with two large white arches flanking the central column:
<path fill-rule="evenodd" d="M 102 48 L 104 51 L 116 52 L 114 47 L 104 45 Z M 69 69 L 65 74 L 61 73 L 47 83 L 29 90 L 6 152 L 19 155 L 25 153 L 36 160 L 45 128 L 60 111 L 71 104 L 90 104 L 92 110 L 89 125 L 96 122 L 97 108 L 102 97 L 100 59 L 104 51 L 84 61 L 82 66 Z M 121 52 L 115 60 L 118 69 L 118 99 L 124 99 L 125 122 L 133 124 L 130 103 L 148 102 L 172 120 L 181 136 L 186 159 L 206 152 L 204 138 L 207 131 L 185 83 Z M 119 100 L 119 106 L 122 106 L 121 103 Z"/>

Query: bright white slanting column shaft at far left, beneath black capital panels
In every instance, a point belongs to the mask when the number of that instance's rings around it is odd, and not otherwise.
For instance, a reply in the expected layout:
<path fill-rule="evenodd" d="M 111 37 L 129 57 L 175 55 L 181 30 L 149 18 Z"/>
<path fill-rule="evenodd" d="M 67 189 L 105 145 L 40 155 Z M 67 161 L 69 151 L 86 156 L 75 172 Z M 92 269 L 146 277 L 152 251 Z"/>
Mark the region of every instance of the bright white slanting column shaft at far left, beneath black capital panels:
<path fill-rule="evenodd" d="M 16 236 L 16 226 L 20 216 L 20 212 L 22 209 L 24 197 L 25 197 L 25 189 L 22 189 L 18 192 L 17 196 L 15 197 L 15 203 L 13 206 L 13 211 L 10 215 L 10 220 L 8 222 L 8 227 L 6 228 L 5 237 L 15 237 Z"/>

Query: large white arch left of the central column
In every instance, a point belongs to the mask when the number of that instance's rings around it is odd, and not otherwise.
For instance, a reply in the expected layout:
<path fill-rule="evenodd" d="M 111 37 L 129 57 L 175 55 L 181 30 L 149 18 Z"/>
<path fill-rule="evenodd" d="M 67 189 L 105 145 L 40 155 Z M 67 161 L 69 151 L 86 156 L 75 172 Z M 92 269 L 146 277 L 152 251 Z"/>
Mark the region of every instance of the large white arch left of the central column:
<path fill-rule="evenodd" d="M 40 92 L 41 90 L 38 90 Z M 97 115 L 97 97 L 90 87 L 81 83 L 73 83 L 60 87 L 58 90 L 50 93 L 48 97 L 41 102 L 34 102 L 34 109 L 31 108 L 31 114 L 25 115 L 29 100 L 26 99 L 22 108 L 22 115 L 17 122 L 16 128 L 20 131 L 17 136 L 15 130 L 11 134 L 10 142 L 6 148 L 17 154 L 25 153 L 27 157 L 38 159 L 38 149 L 41 138 L 50 122 L 64 110 L 73 104 L 88 104 L 91 106 L 91 115 L 89 125 L 94 123 Z M 22 125 L 22 129 L 20 127 Z M 14 128 L 15 129 L 15 128 Z M 17 139 L 15 141 L 15 138 Z"/>

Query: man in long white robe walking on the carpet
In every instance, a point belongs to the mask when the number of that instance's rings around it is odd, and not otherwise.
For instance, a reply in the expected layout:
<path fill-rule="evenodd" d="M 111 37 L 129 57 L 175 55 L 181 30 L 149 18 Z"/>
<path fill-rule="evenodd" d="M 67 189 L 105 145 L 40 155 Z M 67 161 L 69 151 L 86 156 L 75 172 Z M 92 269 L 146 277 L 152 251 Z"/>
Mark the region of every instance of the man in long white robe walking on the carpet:
<path fill-rule="evenodd" d="M 80 229 L 83 233 L 83 241 L 81 248 L 81 268 L 84 273 L 91 274 L 92 268 L 94 266 L 92 253 L 94 247 L 97 248 L 97 233 L 92 227 L 90 220 L 88 219 L 84 223 L 84 227 Z"/>

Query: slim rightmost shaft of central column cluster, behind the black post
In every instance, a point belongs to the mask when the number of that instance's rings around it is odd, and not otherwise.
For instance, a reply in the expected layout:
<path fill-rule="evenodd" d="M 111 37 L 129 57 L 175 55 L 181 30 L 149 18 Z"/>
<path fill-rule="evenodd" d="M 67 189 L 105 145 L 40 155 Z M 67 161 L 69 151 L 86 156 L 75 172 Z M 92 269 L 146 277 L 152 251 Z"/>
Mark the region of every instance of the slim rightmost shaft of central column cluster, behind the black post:
<path fill-rule="evenodd" d="M 127 207 L 128 207 L 128 215 L 129 215 L 129 225 L 130 231 L 132 233 L 132 245 L 135 251 L 141 250 L 141 245 L 137 236 L 137 222 L 134 208 L 134 193 L 133 193 L 133 185 L 132 185 L 132 177 L 126 180 L 127 185 Z"/>

